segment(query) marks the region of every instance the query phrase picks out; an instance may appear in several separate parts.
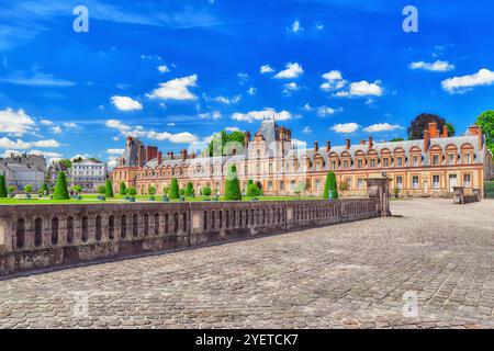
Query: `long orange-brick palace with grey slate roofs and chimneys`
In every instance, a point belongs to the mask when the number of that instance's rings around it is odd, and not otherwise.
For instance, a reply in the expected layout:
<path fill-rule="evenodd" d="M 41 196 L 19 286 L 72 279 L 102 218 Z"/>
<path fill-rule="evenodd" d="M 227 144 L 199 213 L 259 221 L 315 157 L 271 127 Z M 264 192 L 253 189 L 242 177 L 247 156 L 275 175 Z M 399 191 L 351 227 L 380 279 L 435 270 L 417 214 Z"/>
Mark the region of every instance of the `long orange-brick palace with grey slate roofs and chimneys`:
<path fill-rule="evenodd" d="M 463 135 L 448 137 L 430 123 L 420 140 L 377 143 L 372 136 L 343 146 L 319 145 L 312 148 L 294 143 L 292 132 L 276 121 L 262 121 L 259 131 L 245 133 L 245 143 L 225 147 L 227 156 L 197 156 L 182 150 L 164 155 L 155 146 L 127 137 L 125 151 L 115 167 L 114 191 L 124 182 L 139 194 L 155 186 L 158 194 L 177 178 L 180 188 L 192 182 L 195 194 L 210 186 L 223 193 L 227 169 L 236 165 L 242 189 L 248 180 L 262 188 L 265 195 L 321 195 L 326 174 L 334 171 L 338 183 L 346 183 L 346 195 L 363 195 L 364 179 L 385 173 L 390 189 L 398 188 L 404 196 L 447 196 L 453 186 L 465 192 L 484 192 L 484 182 L 493 177 L 493 157 L 478 126 Z M 205 155 L 205 156 L 204 156 Z"/>

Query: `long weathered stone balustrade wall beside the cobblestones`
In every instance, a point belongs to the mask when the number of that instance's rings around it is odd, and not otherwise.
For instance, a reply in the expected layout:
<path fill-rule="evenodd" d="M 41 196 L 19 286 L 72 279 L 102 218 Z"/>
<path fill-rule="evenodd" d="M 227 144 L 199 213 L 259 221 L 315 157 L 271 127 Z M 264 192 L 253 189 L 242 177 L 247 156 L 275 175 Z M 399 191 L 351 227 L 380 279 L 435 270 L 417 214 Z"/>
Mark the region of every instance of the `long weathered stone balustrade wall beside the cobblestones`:
<path fill-rule="evenodd" d="M 375 196 L 337 201 L 5 205 L 0 206 L 0 274 L 373 218 L 389 213 L 383 206 L 386 203 Z"/>

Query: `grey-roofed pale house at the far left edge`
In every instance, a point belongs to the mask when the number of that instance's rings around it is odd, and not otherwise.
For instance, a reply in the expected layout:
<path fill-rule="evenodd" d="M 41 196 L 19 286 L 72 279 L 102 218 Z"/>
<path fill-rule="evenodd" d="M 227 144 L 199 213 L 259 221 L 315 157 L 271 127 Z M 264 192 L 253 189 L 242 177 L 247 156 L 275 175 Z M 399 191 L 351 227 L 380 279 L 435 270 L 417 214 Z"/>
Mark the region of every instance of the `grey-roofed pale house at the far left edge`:
<path fill-rule="evenodd" d="M 0 160 L 0 174 L 5 176 L 7 185 L 19 190 L 31 184 L 34 190 L 45 181 L 46 161 L 40 156 L 9 157 Z"/>

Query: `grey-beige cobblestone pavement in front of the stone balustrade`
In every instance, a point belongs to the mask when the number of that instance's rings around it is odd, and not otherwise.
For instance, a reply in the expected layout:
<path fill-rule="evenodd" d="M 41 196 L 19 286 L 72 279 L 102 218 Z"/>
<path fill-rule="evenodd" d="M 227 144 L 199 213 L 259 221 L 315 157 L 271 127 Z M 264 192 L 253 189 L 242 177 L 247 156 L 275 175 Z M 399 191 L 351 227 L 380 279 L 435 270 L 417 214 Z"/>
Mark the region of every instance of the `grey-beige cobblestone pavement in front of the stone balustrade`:
<path fill-rule="evenodd" d="M 494 201 L 451 202 L 0 281 L 0 327 L 492 328 Z"/>

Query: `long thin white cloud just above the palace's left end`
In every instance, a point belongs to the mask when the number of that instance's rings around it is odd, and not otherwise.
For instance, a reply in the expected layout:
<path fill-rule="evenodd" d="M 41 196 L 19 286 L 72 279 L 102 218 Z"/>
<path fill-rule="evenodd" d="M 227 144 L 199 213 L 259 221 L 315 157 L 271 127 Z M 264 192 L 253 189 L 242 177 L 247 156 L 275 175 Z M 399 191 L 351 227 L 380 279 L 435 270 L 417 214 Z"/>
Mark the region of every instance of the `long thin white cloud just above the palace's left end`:
<path fill-rule="evenodd" d="M 145 137 L 153 140 L 171 141 L 176 144 L 187 144 L 198 140 L 198 137 L 189 132 L 172 134 L 168 132 L 147 131 L 142 126 L 133 127 L 119 120 L 108 120 L 105 125 L 109 128 L 117 129 L 123 136 Z"/>

